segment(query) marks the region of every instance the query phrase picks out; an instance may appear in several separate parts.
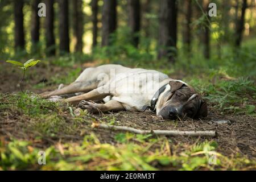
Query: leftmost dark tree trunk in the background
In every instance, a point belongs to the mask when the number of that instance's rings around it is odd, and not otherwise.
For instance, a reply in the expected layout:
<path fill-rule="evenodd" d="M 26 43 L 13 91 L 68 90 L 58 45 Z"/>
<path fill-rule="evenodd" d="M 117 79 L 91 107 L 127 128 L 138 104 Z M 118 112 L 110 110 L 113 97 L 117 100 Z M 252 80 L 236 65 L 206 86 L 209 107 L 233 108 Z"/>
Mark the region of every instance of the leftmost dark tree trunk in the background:
<path fill-rule="evenodd" d="M 23 0 L 14 1 L 15 49 L 25 49 Z"/>

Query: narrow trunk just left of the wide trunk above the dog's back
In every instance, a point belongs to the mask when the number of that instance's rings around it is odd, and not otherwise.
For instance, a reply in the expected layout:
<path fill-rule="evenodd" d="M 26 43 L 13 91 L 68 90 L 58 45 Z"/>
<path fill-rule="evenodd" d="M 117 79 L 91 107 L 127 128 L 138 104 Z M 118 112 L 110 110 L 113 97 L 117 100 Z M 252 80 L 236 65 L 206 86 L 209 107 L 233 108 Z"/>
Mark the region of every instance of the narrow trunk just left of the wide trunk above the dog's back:
<path fill-rule="evenodd" d="M 98 0 L 92 0 L 93 47 L 97 46 L 98 36 Z"/>

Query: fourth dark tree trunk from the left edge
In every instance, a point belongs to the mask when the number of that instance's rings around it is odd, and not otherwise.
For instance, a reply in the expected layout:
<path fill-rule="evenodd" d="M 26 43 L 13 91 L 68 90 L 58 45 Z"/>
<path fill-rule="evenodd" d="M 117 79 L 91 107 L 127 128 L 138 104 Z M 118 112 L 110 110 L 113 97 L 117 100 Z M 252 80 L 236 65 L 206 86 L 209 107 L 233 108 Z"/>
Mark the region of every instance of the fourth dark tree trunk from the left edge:
<path fill-rule="evenodd" d="M 59 0 L 60 53 L 69 52 L 68 0 Z"/>

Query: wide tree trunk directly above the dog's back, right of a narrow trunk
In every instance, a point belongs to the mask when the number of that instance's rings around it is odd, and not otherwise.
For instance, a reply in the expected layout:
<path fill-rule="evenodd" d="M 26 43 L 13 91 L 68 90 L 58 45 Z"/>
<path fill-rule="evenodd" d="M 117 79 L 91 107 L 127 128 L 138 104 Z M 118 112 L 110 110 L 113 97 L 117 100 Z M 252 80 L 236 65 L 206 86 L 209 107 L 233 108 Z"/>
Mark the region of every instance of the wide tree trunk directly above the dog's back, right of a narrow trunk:
<path fill-rule="evenodd" d="M 109 46 L 110 34 L 117 28 L 117 1 L 104 0 L 102 9 L 102 42 L 101 46 Z"/>

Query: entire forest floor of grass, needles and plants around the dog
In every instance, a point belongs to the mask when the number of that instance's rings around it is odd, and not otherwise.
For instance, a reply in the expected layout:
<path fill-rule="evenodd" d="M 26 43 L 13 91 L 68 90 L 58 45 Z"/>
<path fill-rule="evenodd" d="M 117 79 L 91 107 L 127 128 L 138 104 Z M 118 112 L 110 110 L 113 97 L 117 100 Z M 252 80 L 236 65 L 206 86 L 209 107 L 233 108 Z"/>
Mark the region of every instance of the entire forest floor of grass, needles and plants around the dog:
<path fill-rule="evenodd" d="M 89 64 L 65 68 L 39 64 L 28 70 L 23 89 L 30 92 L 26 94 L 19 93 L 21 71 L 2 65 L 0 169 L 256 169 L 256 101 L 255 93 L 250 91 L 255 89 L 251 86 L 255 81 L 241 85 L 242 81 L 223 76 L 206 82 L 204 78 L 192 80 L 197 75 L 170 74 L 192 85 L 199 82 L 199 89 L 203 86 L 209 114 L 200 120 L 170 121 L 154 113 L 130 111 L 100 115 L 84 111 L 76 116 L 73 106 L 31 95 L 68 84 Z M 209 84 L 216 90 L 210 90 Z M 243 96 L 230 91 L 230 84 Z M 248 86 L 249 91 L 238 86 Z M 136 135 L 93 128 L 89 122 L 141 130 L 217 131 L 217 136 Z M 46 151 L 46 165 L 38 164 L 41 150 Z"/>

